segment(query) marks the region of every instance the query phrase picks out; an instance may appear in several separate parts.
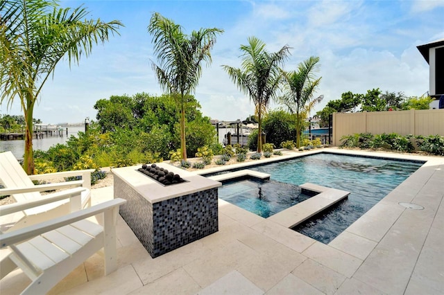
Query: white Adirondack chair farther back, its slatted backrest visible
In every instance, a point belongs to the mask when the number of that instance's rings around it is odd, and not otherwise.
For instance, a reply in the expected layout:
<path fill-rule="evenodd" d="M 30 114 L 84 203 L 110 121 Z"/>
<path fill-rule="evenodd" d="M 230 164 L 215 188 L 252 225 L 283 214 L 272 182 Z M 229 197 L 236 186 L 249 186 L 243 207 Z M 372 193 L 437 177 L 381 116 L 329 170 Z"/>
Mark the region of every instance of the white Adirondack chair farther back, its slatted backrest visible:
<path fill-rule="evenodd" d="M 36 224 L 49 218 L 66 215 L 67 213 L 80 210 L 87 206 L 91 206 L 91 172 L 94 169 L 88 170 L 74 170 L 66 172 L 48 173 L 44 175 L 26 175 L 26 172 L 20 166 L 17 159 L 15 159 L 12 152 L 0 153 L 0 184 L 5 188 L 0 188 L 0 195 L 12 195 L 16 202 L 27 202 L 35 199 L 42 199 L 44 197 L 51 197 L 51 194 L 42 196 L 41 191 L 58 190 L 62 188 L 73 188 L 82 186 L 85 190 L 78 192 L 78 198 L 63 199 L 59 202 L 29 208 L 11 215 L 8 218 L 3 218 L 1 221 L 1 229 L 6 231 L 14 231 L 21 229 L 30 224 Z M 79 181 L 65 181 L 54 184 L 34 185 L 33 180 L 42 179 L 58 179 L 62 177 L 82 176 Z M 71 190 L 65 190 L 68 195 Z"/>

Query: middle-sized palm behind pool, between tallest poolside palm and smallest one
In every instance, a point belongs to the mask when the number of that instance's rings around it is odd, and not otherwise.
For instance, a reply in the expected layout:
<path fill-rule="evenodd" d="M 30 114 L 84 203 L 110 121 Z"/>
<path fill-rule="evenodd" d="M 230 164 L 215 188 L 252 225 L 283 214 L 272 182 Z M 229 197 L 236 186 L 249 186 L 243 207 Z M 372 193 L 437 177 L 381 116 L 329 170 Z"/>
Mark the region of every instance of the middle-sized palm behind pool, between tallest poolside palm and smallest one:
<path fill-rule="evenodd" d="M 270 101 L 276 98 L 281 79 L 280 65 L 287 59 L 290 49 L 285 45 L 276 53 L 268 53 L 265 46 L 257 37 L 249 37 L 248 45 L 241 45 L 241 51 L 244 51 L 241 55 L 242 68 L 223 65 L 234 84 L 255 104 L 257 152 L 262 152 L 262 118 Z"/>

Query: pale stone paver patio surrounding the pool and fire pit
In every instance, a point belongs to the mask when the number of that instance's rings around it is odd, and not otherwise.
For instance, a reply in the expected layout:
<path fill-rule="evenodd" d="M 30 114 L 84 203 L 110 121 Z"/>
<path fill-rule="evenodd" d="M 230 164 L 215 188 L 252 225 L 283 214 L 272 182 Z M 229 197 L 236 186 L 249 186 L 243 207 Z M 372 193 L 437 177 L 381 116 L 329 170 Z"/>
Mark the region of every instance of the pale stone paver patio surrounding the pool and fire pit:
<path fill-rule="evenodd" d="M 119 217 L 119 269 L 103 276 L 96 253 L 50 294 L 444 294 L 444 158 L 323 151 L 427 163 L 330 244 L 219 199 L 217 233 L 153 259 Z M 92 190 L 93 204 L 112 197 Z M 29 282 L 16 270 L 0 292 Z"/>

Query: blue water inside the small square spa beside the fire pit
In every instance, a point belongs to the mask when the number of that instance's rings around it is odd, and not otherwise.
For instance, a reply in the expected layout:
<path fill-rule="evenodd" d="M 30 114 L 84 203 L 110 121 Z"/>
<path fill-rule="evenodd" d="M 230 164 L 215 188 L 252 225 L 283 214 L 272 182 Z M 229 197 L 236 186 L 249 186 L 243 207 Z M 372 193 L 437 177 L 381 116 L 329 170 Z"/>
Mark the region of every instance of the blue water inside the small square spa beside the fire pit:
<path fill-rule="evenodd" d="M 219 198 L 264 218 L 310 197 L 301 193 L 300 188 L 294 184 L 282 184 L 273 180 L 230 181 L 219 187 L 218 193 Z"/>

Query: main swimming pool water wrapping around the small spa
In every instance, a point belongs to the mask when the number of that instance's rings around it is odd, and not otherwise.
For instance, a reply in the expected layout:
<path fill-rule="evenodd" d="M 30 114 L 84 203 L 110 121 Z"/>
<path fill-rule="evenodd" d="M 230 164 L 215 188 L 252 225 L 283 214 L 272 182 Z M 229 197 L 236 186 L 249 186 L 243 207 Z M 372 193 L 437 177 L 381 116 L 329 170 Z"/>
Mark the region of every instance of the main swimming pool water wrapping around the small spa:
<path fill-rule="evenodd" d="M 271 181 L 281 184 L 298 186 L 310 182 L 349 191 L 348 199 L 334 209 L 294 228 L 328 244 L 420 168 L 422 163 L 319 153 L 249 169 L 268 173 Z"/>

